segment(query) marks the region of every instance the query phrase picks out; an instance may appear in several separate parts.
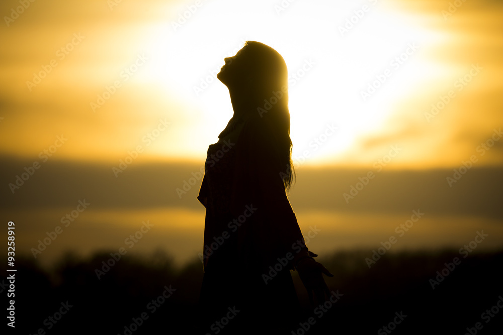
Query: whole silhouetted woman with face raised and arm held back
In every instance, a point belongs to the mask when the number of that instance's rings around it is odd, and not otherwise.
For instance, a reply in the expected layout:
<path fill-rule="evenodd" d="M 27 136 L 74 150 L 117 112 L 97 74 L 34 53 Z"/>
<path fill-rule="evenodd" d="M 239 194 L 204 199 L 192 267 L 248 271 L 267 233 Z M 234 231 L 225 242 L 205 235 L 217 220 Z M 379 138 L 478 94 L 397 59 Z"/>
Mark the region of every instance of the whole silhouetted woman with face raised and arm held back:
<path fill-rule="evenodd" d="M 308 251 L 286 194 L 293 180 L 287 67 L 276 50 L 248 41 L 217 78 L 234 115 L 208 148 L 197 197 L 206 207 L 206 333 L 290 333 L 300 307 L 290 269 L 311 301 L 313 293 L 324 301 L 322 273 L 332 275 Z"/>

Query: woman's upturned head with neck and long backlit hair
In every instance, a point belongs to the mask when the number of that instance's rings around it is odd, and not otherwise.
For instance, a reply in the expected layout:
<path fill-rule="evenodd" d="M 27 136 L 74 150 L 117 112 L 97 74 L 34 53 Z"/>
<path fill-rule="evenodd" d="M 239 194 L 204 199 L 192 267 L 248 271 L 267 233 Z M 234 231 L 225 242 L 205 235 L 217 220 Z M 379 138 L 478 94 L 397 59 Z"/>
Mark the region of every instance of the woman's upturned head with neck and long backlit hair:
<path fill-rule="evenodd" d="M 249 113 L 263 121 L 263 135 L 280 158 L 278 173 L 288 189 L 294 171 L 285 60 L 270 46 L 247 41 L 235 56 L 225 58 L 217 78 L 229 88 L 235 114 Z"/>

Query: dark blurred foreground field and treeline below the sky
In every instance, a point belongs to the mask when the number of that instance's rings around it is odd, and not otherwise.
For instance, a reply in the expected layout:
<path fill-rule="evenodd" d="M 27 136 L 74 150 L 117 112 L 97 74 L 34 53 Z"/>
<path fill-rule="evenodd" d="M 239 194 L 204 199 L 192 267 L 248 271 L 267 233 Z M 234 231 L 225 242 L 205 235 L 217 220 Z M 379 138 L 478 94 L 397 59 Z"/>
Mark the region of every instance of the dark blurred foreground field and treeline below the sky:
<path fill-rule="evenodd" d="M 305 310 L 290 333 L 503 333 L 503 252 L 466 258 L 458 251 L 389 253 L 370 269 L 364 261 L 369 255 L 339 252 L 319 260 L 334 274 L 326 278 L 330 290 L 342 294 L 336 303 L 326 303 L 324 311 L 308 306 L 294 272 Z M 453 263 L 456 257 L 458 264 Z M 98 279 L 95 270 L 109 259 L 110 253 L 90 260 L 69 254 L 50 273 L 33 259 L 17 260 L 16 333 L 194 333 L 203 275 L 199 261 L 178 269 L 162 252 L 144 258 L 124 255 Z M 6 301 L 8 280 L 2 275 L 0 281 Z"/>

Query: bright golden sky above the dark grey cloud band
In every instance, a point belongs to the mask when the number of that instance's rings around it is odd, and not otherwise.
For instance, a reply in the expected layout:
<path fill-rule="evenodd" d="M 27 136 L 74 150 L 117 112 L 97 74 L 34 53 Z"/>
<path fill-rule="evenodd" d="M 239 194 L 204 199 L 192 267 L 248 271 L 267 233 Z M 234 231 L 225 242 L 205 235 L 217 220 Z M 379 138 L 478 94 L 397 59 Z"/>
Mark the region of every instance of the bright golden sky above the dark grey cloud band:
<path fill-rule="evenodd" d="M 2 155 L 41 161 L 62 136 L 50 159 L 118 164 L 140 146 L 141 162 L 202 162 L 232 116 L 216 70 L 256 40 L 289 68 L 296 166 L 370 166 L 393 146 L 390 168 L 503 164 L 503 141 L 479 148 L 503 121 L 497 1 L 18 6 L 0 5 Z"/>

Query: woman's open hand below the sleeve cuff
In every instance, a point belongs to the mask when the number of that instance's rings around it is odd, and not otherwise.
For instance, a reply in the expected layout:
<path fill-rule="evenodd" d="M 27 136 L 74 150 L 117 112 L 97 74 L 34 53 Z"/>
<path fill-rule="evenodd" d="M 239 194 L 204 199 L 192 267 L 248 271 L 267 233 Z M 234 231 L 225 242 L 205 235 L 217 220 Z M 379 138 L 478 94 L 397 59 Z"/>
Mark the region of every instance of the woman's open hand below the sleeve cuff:
<path fill-rule="evenodd" d="M 309 254 L 310 256 L 317 256 L 311 252 Z M 330 296 L 330 291 L 322 274 L 324 273 L 329 277 L 333 277 L 333 275 L 321 263 L 316 262 L 312 257 L 304 257 L 297 261 L 296 270 L 307 290 L 309 302 L 312 306 L 314 306 L 313 293 L 318 304 L 325 301 L 325 294 L 327 298 Z"/>

